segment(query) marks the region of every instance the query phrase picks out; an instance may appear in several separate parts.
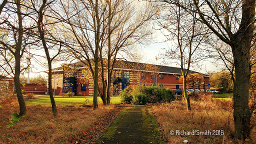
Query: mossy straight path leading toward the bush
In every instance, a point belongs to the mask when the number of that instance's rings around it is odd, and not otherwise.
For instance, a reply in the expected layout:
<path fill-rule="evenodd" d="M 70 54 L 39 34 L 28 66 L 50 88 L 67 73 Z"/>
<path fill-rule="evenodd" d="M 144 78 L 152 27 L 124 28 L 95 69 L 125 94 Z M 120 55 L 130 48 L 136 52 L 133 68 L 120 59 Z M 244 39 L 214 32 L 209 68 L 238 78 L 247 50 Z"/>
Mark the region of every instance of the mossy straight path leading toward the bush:
<path fill-rule="evenodd" d="M 166 143 L 159 136 L 150 108 L 125 107 L 96 143 Z"/>

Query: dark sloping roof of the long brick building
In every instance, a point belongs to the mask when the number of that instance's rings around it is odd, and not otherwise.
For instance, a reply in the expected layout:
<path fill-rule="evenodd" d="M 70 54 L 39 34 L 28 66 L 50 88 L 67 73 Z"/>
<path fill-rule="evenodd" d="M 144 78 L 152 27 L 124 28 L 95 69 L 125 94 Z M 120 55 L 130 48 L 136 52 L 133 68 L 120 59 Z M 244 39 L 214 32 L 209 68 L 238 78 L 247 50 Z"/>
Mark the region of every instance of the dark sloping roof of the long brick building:
<path fill-rule="evenodd" d="M 88 63 L 86 60 L 83 61 L 84 63 Z M 71 64 L 66 65 L 75 65 L 75 67 L 85 67 L 86 65 L 81 62 L 74 62 Z M 93 64 L 93 62 L 92 62 Z M 104 65 L 106 67 L 106 65 Z M 73 66 L 72 66 L 73 67 Z M 163 65 L 156 65 L 156 64 L 148 64 L 148 63 L 141 63 L 141 62 L 133 62 L 133 61 L 125 61 L 125 60 L 116 60 L 115 69 L 129 69 L 129 70 L 141 70 L 141 71 L 152 71 L 152 72 L 159 72 L 159 73 L 171 73 L 171 74 L 181 74 L 180 67 L 172 67 L 172 66 L 163 66 Z M 61 67 L 54 68 L 53 70 L 62 69 Z M 184 69 L 186 71 L 186 69 Z M 60 70 L 61 71 L 61 70 Z M 189 70 L 189 73 L 197 73 L 196 71 Z M 209 76 L 207 74 L 200 73 L 203 76 Z"/>

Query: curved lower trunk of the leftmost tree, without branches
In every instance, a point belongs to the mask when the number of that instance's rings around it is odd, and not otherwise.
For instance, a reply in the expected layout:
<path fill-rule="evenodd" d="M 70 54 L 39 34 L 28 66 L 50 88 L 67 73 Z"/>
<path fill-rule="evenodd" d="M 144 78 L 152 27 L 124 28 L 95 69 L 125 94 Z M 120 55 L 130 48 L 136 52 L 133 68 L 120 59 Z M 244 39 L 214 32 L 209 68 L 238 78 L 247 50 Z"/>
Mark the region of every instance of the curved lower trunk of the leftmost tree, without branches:
<path fill-rule="evenodd" d="M 19 51 L 18 53 L 16 53 L 19 55 Z M 16 95 L 17 95 L 17 99 L 18 99 L 18 104 L 19 104 L 19 115 L 23 116 L 26 114 L 26 105 L 25 105 L 25 101 L 24 98 L 22 96 L 22 92 L 21 92 L 21 87 L 20 87 L 20 82 L 19 82 L 19 75 L 20 75 L 20 58 L 19 56 L 16 55 L 15 56 L 15 73 L 14 73 L 14 84 L 15 84 L 15 89 L 16 89 Z"/>

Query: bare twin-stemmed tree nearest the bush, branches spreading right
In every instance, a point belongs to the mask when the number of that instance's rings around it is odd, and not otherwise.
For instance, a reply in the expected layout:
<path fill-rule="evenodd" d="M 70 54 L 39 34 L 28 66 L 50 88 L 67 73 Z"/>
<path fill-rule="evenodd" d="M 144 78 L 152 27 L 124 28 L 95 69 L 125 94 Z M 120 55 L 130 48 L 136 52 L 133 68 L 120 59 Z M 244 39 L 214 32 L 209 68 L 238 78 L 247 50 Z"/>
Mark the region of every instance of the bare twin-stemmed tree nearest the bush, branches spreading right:
<path fill-rule="evenodd" d="M 106 99 L 106 104 L 109 104 L 111 77 L 118 54 L 132 54 L 129 49 L 151 34 L 147 25 L 155 13 L 154 8 L 146 1 L 107 0 L 107 5 L 107 42 L 100 47 L 99 55 L 103 91 L 101 95 Z M 105 62 L 104 58 L 107 59 Z M 104 67 L 107 69 L 106 81 Z"/>

